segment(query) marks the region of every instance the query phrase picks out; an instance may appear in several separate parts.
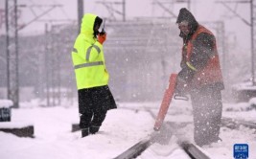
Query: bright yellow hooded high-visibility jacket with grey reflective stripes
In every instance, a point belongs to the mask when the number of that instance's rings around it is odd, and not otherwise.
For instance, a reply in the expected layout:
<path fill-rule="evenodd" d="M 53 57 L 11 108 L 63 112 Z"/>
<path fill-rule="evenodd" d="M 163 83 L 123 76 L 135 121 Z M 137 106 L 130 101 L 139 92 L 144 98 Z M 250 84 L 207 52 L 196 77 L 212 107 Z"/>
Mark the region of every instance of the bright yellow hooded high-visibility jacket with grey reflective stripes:
<path fill-rule="evenodd" d="M 82 17 L 81 33 L 71 53 L 78 89 L 107 85 L 109 75 L 105 68 L 103 45 L 94 37 L 93 26 L 97 15 Z"/>

